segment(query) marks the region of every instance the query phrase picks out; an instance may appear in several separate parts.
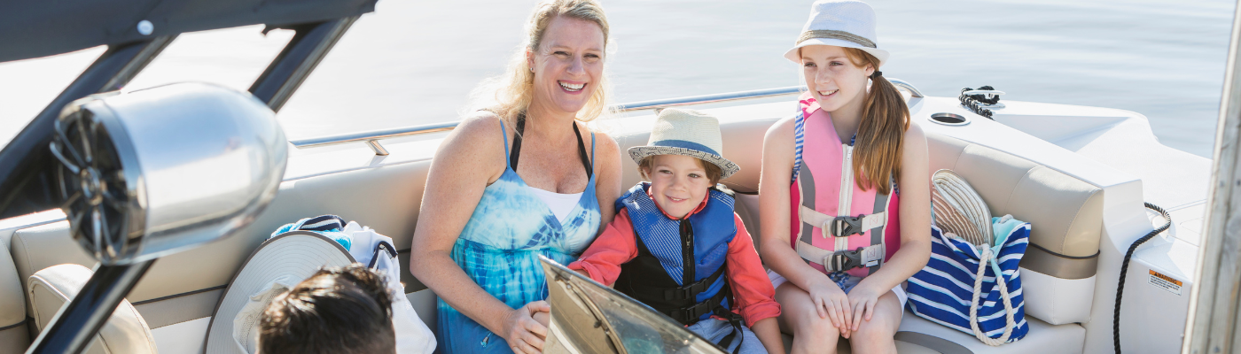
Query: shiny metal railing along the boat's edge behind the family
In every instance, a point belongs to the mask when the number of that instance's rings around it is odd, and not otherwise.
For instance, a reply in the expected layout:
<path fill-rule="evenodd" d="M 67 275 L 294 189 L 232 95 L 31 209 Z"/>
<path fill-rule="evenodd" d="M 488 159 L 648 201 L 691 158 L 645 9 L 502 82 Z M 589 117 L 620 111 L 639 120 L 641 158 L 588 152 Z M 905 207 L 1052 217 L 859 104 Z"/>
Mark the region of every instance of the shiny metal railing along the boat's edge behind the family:
<path fill-rule="evenodd" d="M 905 89 L 905 90 L 910 92 L 910 95 L 913 97 L 913 98 L 925 97 L 925 95 L 922 95 L 922 92 L 920 92 L 917 88 L 915 88 L 912 84 L 910 84 L 910 83 L 907 83 L 905 80 L 891 79 L 891 78 L 887 79 L 887 80 L 891 82 L 897 88 Z M 721 103 L 721 101 L 733 101 L 733 100 L 772 98 L 772 97 L 782 97 L 782 95 L 794 95 L 794 94 L 800 94 L 803 92 L 805 92 L 805 87 L 804 85 L 783 87 L 783 88 L 757 89 L 757 90 L 745 90 L 745 92 L 731 92 L 731 93 L 717 93 L 717 94 L 691 95 L 691 97 L 683 97 L 683 98 L 670 98 L 670 99 L 656 99 L 656 100 L 634 101 L 634 103 L 625 103 L 625 104 L 613 105 L 612 109 L 616 110 L 616 111 L 620 111 L 620 113 L 623 113 L 623 111 L 635 111 L 635 110 L 647 110 L 647 109 L 659 110 L 659 109 L 664 109 L 664 108 L 669 108 L 669 106 L 681 106 L 681 105 L 695 105 L 695 104 L 709 104 L 709 103 Z M 458 124 L 457 121 L 447 121 L 447 123 L 436 123 L 436 124 L 424 124 L 424 125 L 414 125 L 414 126 L 403 126 L 403 127 L 372 130 L 372 131 L 362 131 L 362 132 L 352 132 L 352 134 L 343 134 L 343 135 L 333 135 L 333 136 L 323 136 L 323 137 L 300 139 L 300 140 L 292 140 L 289 142 L 292 142 L 293 146 L 297 146 L 298 149 L 309 149 L 309 147 L 319 147 L 319 146 L 329 146 L 329 145 L 339 145 L 339 144 L 350 144 L 350 142 L 362 142 L 362 141 L 365 141 L 366 145 L 370 146 L 371 150 L 375 151 L 375 155 L 381 155 L 382 156 L 382 155 L 388 155 L 388 152 L 387 152 L 387 149 L 383 149 L 383 145 L 380 145 L 380 140 L 392 139 L 392 137 L 402 137 L 402 136 L 412 136 L 412 135 L 421 135 L 421 134 L 432 134 L 432 132 L 449 131 L 449 130 L 453 130 L 454 127 L 457 127 L 457 124 Z"/>

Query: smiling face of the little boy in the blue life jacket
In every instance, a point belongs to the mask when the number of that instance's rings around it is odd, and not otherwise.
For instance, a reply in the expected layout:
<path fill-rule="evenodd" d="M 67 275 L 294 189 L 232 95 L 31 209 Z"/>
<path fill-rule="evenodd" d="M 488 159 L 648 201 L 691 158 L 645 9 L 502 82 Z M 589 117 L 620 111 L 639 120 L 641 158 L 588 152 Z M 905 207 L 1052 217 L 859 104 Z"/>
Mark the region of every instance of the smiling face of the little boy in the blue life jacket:
<path fill-rule="evenodd" d="M 678 219 L 697 208 L 711 188 L 702 161 L 684 155 L 653 156 L 647 176 L 652 198 L 664 213 Z"/>

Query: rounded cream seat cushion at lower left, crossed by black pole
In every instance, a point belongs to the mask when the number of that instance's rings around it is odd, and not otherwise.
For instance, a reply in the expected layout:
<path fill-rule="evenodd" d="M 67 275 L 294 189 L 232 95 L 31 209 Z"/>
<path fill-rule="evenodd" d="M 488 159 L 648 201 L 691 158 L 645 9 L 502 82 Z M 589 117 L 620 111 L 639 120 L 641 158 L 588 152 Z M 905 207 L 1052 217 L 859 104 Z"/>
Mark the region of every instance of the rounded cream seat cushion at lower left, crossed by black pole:
<path fill-rule="evenodd" d="M 77 296 L 91 275 L 91 270 L 84 266 L 65 264 L 40 270 L 30 276 L 26 288 L 32 318 L 40 330 L 47 328 L 56 312 Z M 122 300 L 84 353 L 155 354 L 158 350 L 146 322 L 129 301 Z"/>

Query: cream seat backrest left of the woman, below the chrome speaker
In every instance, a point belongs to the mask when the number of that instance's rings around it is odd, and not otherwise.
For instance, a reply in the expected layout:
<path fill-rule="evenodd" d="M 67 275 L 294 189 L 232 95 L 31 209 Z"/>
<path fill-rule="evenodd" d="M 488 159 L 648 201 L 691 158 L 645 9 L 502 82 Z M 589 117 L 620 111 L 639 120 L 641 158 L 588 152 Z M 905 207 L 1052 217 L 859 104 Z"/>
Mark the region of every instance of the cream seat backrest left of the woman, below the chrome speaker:
<path fill-rule="evenodd" d="M 249 227 L 231 238 L 159 259 L 127 298 L 151 329 L 210 317 L 233 274 L 273 230 L 321 214 L 357 220 L 391 236 L 406 291 L 422 290 L 424 286 L 408 272 L 408 256 L 428 167 L 429 161 L 414 161 L 285 181 Z M 58 264 L 96 264 L 69 236 L 68 222 L 17 230 L 11 244 L 19 278 Z"/>

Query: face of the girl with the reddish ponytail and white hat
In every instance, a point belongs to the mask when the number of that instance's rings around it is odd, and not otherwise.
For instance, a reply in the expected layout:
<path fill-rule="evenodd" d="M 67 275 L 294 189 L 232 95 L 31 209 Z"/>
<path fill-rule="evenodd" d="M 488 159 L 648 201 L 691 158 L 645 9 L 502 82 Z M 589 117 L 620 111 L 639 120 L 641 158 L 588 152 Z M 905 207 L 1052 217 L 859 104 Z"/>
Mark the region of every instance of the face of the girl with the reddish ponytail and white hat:
<path fill-rule="evenodd" d="M 824 111 L 861 104 L 875 68 L 854 64 L 845 50 L 836 46 L 805 46 L 800 51 L 805 87 Z"/>

